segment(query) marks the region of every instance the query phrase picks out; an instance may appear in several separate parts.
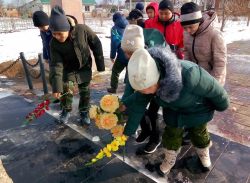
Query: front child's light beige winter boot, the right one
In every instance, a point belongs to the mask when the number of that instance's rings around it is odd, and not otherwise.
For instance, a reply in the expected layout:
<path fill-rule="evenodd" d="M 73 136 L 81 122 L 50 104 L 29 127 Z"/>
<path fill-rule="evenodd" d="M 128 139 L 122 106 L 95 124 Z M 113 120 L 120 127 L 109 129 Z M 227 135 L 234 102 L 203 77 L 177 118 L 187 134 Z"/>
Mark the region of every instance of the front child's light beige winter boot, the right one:
<path fill-rule="evenodd" d="M 212 146 L 212 142 L 210 141 L 210 144 L 208 145 L 208 147 L 205 147 L 205 148 L 195 147 L 195 151 L 198 154 L 202 165 L 206 168 L 211 166 L 211 160 L 210 160 L 210 155 L 209 155 L 209 148 L 211 146 Z"/>

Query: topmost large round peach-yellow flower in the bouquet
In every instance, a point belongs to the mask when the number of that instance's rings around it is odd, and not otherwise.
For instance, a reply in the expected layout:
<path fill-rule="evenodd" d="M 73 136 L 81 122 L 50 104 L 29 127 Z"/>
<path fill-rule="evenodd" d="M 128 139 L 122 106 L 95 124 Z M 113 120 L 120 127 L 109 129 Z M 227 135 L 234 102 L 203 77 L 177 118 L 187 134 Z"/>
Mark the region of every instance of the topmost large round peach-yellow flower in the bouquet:
<path fill-rule="evenodd" d="M 100 101 L 102 110 L 106 112 L 115 112 L 119 108 L 119 100 L 115 95 L 105 95 Z"/>

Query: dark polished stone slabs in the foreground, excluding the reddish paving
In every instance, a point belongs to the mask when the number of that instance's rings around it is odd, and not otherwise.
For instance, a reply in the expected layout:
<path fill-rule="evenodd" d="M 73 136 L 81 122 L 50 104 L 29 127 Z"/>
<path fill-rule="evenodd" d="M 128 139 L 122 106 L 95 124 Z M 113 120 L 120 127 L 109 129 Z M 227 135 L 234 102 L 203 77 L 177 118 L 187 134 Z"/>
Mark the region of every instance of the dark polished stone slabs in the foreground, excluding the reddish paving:
<path fill-rule="evenodd" d="M 95 100 L 104 94 L 93 91 Z M 77 103 L 77 98 L 74 103 Z M 15 183 L 34 182 L 237 182 L 249 183 L 250 148 L 211 134 L 212 169 L 203 172 L 193 148 L 184 146 L 174 169 L 161 178 L 154 171 L 162 159 L 162 149 L 153 155 L 136 155 L 143 146 L 130 138 L 125 161 L 122 153 L 93 166 L 84 164 L 111 140 L 110 134 L 97 129 L 79 127 L 77 123 L 57 125 L 56 106 L 33 124 L 21 127 L 25 115 L 34 104 L 11 95 L 0 99 L 0 156 L 8 175 Z M 76 106 L 76 105 L 75 105 Z M 76 110 L 72 121 L 76 121 Z M 93 142 L 95 136 L 99 142 Z"/>

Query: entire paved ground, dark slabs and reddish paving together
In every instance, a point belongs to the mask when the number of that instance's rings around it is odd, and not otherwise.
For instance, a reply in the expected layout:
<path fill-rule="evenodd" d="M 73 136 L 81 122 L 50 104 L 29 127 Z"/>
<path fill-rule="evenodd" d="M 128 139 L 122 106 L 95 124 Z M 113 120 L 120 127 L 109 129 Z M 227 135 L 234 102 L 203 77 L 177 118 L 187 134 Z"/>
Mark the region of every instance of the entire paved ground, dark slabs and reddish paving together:
<path fill-rule="evenodd" d="M 15 94 L 10 95 L 11 90 L 8 91 L 8 88 L 11 81 L 0 78 L 0 159 L 3 166 L 13 182 L 17 183 L 250 183 L 249 50 L 249 41 L 228 45 L 229 63 L 225 87 L 231 96 L 231 106 L 226 112 L 217 114 L 214 121 L 209 123 L 213 140 L 213 166 L 208 172 L 200 167 L 193 148 L 186 145 L 168 177 L 161 178 L 155 172 L 155 166 L 163 158 L 162 148 L 152 155 L 136 155 L 136 151 L 139 149 L 140 152 L 144 144 L 135 144 L 133 138 L 129 139 L 125 161 L 120 152 L 110 159 L 86 167 L 84 164 L 110 142 L 111 136 L 94 125 L 88 128 L 77 125 L 78 98 L 75 97 L 74 100 L 72 123 L 56 124 L 54 121 L 58 110 L 56 106 L 52 106 L 53 110 L 49 114 L 30 126 L 21 127 L 25 115 L 34 109 L 36 102 Z M 94 74 L 91 83 L 92 103 L 97 103 L 106 94 L 104 90 L 109 85 L 109 75 L 109 72 Z M 119 91 L 122 92 L 123 87 Z M 99 142 L 93 141 L 96 136 L 100 138 Z"/>

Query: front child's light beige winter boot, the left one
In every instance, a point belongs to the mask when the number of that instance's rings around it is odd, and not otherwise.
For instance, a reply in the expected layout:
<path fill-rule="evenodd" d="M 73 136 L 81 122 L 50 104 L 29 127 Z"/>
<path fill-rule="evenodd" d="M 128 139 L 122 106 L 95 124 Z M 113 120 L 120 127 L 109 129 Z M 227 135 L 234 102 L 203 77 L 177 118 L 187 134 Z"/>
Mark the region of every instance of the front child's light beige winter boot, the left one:
<path fill-rule="evenodd" d="M 165 158 L 160 165 L 160 174 L 162 176 L 168 174 L 175 165 L 176 157 L 180 151 L 164 149 Z"/>

